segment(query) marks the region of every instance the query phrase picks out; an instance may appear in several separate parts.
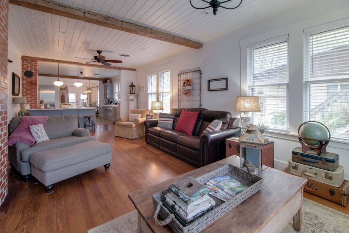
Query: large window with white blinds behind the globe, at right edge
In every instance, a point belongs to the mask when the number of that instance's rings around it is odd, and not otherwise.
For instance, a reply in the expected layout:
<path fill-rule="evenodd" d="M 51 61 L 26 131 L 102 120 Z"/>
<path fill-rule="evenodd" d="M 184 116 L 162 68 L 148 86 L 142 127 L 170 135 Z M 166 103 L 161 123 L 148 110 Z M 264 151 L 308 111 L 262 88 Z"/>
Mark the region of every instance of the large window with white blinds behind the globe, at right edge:
<path fill-rule="evenodd" d="M 349 24 L 304 30 L 303 120 L 349 139 Z"/>

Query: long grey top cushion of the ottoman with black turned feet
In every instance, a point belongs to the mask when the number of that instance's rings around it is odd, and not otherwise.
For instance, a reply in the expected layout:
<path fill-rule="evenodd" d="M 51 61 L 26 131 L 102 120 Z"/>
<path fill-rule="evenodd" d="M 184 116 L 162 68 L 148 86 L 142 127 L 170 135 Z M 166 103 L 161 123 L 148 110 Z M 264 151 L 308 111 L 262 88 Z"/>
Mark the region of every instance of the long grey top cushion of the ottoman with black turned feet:
<path fill-rule="evenodd" d="M 111 153 L 111 146 L 97 141 L 88 141 L 78 145 L 70 145 L 48 151 L 40 151 L 30 156 L 31 166 L 51 172 L 72 166 L 83 161 Z"/>

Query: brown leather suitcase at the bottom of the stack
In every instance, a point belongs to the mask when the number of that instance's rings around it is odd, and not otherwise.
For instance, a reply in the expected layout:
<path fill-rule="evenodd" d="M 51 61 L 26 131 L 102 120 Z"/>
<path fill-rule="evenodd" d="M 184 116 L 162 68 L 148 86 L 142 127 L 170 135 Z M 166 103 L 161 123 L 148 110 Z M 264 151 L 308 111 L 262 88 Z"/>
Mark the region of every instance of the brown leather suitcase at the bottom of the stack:
<path fill-rule="evenodd" d="M 289 173 L 288 167 L 283 169 L 282 171 L 285 173 Z M 334 187 L 308 178 L 308 182 L 304 185 L 304 191 L 327 199 L 328 201 L 340 204 L 342 206 L 347 206 L 349 204 L 348 180 L 344 180 L 340 187 Z"/>

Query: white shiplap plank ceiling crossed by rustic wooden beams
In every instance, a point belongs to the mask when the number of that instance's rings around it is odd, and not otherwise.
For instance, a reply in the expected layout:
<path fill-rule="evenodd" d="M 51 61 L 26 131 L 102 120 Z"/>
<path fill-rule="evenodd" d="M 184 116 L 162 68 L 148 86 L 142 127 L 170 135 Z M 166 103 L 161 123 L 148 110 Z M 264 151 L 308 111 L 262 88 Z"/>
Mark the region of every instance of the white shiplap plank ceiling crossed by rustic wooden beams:
<path fill-rule="evenodd" d="M 206 9 L 208 15 L 201 14 L 205 10 L 192 8 L 189 0 L 57 1 L 205 43 L 281 15 L 311 0 L 243 0 L 242 5 L 235 10 L 219 8 L 216 16 L 212 14 L 211 8 Z M 207 5 L 200 0 L 192 2 L 198 7 Z M 239 0 L 233 0 L 224 6 L 232 7 L 238 2 Z M 102 50 L 105 51 L 102 55 L 106 59 L 122 60 L 121 64 L 113 64 L 114 66 L 129 68 L 152 63 L 188 49 L 11 4 L 9 39 L 26 56 L 86 62 L 85 59 L 75 57 L 92 58 L 97 55 L 95 50 Z M 120 57 L 120 53 L 131 57 Z M 51 72 L 53 67 L 54 64 L 39 63 L 39 72 Z M 114 70 L 83 69 L 86 73 L 99 73 L 101 78 L 115 76 Z M 75 75 L 76 71 L 69 65 L 60 69 L 60 73 L 66 75 Z"/>

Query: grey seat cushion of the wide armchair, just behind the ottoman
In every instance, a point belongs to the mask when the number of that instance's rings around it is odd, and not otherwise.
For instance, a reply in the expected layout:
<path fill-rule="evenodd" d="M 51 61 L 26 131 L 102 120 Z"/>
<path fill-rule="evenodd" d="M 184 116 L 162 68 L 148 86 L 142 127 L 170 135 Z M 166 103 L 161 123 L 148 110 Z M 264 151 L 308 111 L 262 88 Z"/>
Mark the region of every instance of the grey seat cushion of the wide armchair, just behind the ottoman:
<path fill-rule="evenodd" d="M 93 136 L 86 136 L 86 137 L 75 137 L 75 136 L 68 136 L 68 137 L 62 137 L 62 138 L 54 138 L 49 141 L 43 141 L 41 143 L 35 143 L 32 145 L 32 147 L 29 147 L 27 149 L 24 149 L 21 151 L 21 160 L 24 162 L 29 162 L 30 155 L 35 152 L 39 151 L 47 151 L 52 150 L 55 148 L 61 148 L 65 146 L 75 145 L 78 143 L 83 143 L 86 141 L 92 141 L 96 140 Z"/>

